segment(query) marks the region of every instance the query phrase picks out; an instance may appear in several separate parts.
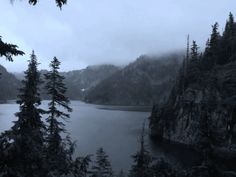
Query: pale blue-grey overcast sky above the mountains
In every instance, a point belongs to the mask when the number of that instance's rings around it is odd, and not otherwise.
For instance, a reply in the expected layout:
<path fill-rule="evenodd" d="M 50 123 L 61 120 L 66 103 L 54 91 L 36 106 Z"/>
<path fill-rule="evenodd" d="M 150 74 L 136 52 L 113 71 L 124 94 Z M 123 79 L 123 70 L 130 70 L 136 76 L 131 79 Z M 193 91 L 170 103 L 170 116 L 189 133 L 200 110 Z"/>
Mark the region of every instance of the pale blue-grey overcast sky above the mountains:
<path fill-rule="evenodd" d="M 111 63 L 125 65 L 141 54 L 184 49 L 187 34 L 203 48 L 214 22 L 224 28 L 235 0 L 68 0 L 62 10 L 54 0 L 0 0 L 0 35 L 26 55 L 9 71 L 23 71 L 34 49 L 40 68 L 53 56 L 62 70 Z"/>

